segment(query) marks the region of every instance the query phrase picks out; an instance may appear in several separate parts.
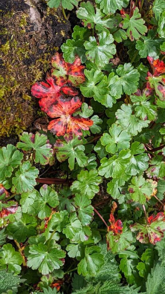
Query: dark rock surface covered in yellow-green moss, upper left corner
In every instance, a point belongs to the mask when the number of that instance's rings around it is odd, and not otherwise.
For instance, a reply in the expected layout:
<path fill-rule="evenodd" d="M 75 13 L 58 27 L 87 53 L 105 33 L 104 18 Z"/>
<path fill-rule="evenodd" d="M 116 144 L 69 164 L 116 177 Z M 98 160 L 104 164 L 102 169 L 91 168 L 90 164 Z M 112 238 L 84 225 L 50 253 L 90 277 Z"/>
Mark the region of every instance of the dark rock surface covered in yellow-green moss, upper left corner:
<path fill-rule="evenodd" d="M 33 127 L 38 101 L 31 86 L 45 78 L 69 29 L 43 0 L 0 1 L 0 136 Z"/>

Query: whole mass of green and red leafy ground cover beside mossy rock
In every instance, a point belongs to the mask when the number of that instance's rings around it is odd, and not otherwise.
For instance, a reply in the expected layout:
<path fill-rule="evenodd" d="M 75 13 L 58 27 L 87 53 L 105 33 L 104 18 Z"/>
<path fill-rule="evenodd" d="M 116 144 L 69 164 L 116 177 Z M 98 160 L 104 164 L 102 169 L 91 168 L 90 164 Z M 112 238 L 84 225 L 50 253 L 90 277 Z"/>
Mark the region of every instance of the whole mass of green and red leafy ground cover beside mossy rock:
<path fill-rule="evenodd" d="M 165 1 L 47 5 L 78 24 L 0 148 L 0 293 L 163 294 Z"/>

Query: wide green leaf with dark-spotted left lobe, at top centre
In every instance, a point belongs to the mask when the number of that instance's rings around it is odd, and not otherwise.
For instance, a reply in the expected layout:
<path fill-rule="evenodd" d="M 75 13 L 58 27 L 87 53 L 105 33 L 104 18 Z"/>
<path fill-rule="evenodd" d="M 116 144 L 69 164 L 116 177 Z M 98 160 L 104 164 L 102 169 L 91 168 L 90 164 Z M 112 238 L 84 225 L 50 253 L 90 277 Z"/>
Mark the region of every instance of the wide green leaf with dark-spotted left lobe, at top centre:
<path fill-rule="evenodd" d="M 108 31 L 107 28 L 113 28 L 115 19 L 106 17 L 97 7 L 94 8 L 90 1 L 81 2 L 80 7 L 76 11 L 77 17 L 82 19 L 83 25 L 88 29 L 95 27 L 98 31 Z"/>

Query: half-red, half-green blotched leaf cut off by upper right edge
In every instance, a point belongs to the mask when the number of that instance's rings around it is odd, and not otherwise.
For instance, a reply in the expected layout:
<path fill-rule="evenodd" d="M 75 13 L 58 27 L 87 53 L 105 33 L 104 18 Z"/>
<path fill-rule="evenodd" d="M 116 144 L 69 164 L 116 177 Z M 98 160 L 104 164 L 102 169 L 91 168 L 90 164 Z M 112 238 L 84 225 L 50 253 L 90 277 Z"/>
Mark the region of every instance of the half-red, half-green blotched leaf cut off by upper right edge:
<path fill-rule="evenodd" d="M 153 74 L 149 71 L 147 73 L 147 88 L 155 89 L 156 94 L 160 100 L 165 100 L 165 64 L 163 60 L 147 56 Z M 164 75 L 162 75 L 164 74 Z"/>

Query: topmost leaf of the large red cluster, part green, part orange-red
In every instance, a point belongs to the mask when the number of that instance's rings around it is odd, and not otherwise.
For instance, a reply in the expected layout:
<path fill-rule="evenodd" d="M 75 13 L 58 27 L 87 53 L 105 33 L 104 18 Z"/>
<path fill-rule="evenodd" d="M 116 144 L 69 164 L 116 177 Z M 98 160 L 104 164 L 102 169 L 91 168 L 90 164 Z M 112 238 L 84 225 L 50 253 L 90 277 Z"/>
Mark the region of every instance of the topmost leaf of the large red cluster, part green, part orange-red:
<path fill-rule="evenodd" d="M 51 60 L 52 76 L 56 79 L 58 86 L 63 86 L 68 83 L 74 87 L 85 81 L 84 69 L 85 66 L 81 65 L 81 60 L 75 56 L 73 63 L 65 62 L 62 53 L 56 53 Z"/>

